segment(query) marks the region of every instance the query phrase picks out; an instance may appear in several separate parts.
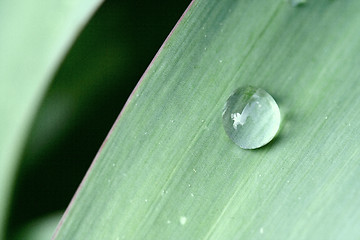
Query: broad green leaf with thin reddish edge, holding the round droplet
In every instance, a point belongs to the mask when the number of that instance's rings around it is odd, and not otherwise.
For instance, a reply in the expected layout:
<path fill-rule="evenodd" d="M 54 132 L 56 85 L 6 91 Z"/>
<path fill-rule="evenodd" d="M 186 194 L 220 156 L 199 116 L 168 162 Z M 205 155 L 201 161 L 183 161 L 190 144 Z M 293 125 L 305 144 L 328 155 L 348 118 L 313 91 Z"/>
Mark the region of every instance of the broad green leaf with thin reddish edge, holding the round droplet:
<path fill-rule="evenodd" d="M 359 10 L 356 0 L 193 2 L 54 238 L 360 238 Z M 222 126 L 226 99 L 247 85 L 282 114 L 258 150 Z"/>

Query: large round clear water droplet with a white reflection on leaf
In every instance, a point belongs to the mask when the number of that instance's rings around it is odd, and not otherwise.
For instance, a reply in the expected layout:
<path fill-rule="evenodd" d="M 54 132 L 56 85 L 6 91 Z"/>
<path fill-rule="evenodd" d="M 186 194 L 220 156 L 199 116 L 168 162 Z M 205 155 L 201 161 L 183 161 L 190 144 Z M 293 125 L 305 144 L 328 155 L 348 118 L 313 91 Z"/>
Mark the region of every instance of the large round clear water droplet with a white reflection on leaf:
<path fill-rule="evenodd" d="M 226 101 L 223 125 L 230 139 L 244 149 L 269 143 L 280 126 L 280 110 L 265 90 L 252 86 L 237 89 Z"/>

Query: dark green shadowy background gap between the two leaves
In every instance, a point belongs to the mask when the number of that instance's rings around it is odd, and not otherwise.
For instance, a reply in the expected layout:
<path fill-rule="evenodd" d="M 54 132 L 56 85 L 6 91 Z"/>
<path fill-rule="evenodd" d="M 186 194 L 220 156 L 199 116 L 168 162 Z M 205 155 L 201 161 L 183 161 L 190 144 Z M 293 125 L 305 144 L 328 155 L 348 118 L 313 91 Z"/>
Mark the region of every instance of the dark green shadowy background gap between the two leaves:
<path fill-rule="evenodd" d="M 35 119 L 7 239 L 31 239 L 24 236 L 36 223 L 49 228 L 45 235 L 54 230 L 127 98 L 189 4 L 108 0 L 98 9 L 58 69 Z"/>

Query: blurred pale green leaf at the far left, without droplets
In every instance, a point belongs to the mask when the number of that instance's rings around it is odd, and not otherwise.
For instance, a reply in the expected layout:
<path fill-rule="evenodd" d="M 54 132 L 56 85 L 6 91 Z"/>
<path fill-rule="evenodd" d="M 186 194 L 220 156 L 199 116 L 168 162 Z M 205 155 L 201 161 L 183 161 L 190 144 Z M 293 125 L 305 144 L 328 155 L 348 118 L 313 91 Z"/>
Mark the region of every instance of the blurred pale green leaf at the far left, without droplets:
<path fill-rule="evenodd" d="M 0 238 L 19 155 L 43 92 L 100 2 L 0 2 Z"/>

